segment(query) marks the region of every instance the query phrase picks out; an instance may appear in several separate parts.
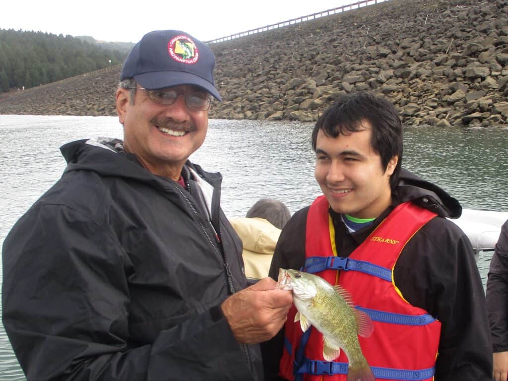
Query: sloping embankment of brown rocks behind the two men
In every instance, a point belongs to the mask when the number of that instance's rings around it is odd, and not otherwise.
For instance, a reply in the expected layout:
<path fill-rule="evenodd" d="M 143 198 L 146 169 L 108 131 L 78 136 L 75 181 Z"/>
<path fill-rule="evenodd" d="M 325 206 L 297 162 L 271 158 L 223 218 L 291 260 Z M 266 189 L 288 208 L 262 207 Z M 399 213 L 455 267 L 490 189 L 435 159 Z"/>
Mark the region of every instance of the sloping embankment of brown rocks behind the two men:
<path fill-rule="evenodd" d="M 220 119 L 314 121 L 354 90 L 408 125 L 508 123 L 508 0 L 390 0 L 212 44 Z M 0 114 L 115 115 L 120 67 L 0 97 Z"/>

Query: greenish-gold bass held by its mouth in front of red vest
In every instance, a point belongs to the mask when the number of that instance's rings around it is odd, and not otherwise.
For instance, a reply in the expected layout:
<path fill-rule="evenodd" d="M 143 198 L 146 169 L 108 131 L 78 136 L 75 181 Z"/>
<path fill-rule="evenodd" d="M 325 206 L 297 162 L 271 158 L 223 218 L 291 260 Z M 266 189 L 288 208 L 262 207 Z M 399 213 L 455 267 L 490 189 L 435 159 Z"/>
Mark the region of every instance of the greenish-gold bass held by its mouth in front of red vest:
<path fill-rule="evenodd" d="M 278 288 L 293 292 L 303 332 L 313 326 L 323 334 L 323 357 L 333 361 L 342 349 L 349 360 L 347 381 L 374 381 L 374 375 L 362 353 L 358 335 L 369 337 L 374 325 L 370 317 L 356 309 L 353 298 L 341 285 L 332 286 L 320 276 L 279 269 Z"/>

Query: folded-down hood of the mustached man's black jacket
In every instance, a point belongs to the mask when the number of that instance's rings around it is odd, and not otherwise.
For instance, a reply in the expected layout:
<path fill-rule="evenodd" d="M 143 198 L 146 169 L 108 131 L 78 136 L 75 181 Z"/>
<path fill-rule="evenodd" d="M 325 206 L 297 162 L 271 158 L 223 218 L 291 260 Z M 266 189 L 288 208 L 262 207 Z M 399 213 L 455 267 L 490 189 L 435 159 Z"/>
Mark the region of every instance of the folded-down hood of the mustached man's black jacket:
<path fill-rule="evenodd" d="M 89 170 L 102 176 L 115 176 L 133 180 L 160 183 L 161 177 L 146 170 L 132 153 L 123 150 L 123 141 L 114 138 L 82 139 L 67 143 L 60 147 L 60 152 L 67 161 L 65 173 Z M 212 185 L 222 180 L 220 173 L 209 173 L 187 161 L 186 166 L 192 168 L 199 176 L 204 177 Z"/>

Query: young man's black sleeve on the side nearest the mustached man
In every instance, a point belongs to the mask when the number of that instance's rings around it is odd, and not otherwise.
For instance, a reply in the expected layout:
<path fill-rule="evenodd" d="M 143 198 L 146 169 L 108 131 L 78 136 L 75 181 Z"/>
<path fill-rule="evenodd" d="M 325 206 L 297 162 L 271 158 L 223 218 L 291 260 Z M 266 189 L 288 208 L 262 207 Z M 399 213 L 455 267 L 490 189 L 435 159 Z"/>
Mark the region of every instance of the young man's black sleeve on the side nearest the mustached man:
<path fill-rule="evenodd" d="M 293 215 L 280 232 L 268 275 L 277 280 L 279 268 L 300 269 L 305 261 L 305 224 L 308 208 Z M 284 329 L 271 340 L 261 343 L 265 381 L 278 381 L 280 359 L 284 350 Z"/>

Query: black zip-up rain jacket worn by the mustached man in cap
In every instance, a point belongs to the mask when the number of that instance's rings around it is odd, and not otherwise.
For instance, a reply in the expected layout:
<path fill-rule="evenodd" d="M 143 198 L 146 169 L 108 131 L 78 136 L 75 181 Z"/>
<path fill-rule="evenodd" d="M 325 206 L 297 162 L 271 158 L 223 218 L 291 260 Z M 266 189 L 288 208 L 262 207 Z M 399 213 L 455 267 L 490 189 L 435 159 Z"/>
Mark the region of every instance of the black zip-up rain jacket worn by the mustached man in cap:
<path fill-rule="evenodd" d="M 259 346 L 219 307 L 246 286 L 220 174 L 186 164 L 213 185 L 210 224 L 192 188 L 131 154 L 61 151 L 62 178 L 3 247 L 3 323 L 28 381 L 262 379 Z"/>

